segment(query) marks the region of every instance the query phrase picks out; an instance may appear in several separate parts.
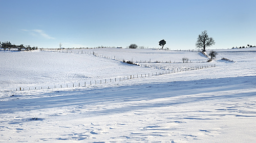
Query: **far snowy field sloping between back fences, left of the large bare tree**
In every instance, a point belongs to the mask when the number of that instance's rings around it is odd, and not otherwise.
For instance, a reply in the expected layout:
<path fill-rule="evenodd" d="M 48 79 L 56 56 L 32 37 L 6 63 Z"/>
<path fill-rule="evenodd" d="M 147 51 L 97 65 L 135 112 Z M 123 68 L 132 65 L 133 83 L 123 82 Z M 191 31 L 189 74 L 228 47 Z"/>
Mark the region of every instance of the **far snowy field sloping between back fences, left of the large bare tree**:
<path fill-rule="evenodd" d="M 65 51 L 65 50 L 64 50 Z M 67 51 L 67 50 L 66 50 Z M 68 52 L 80 52 L 79 50 L 68 50 Z M 116 49 L 96 48 L 83 49 L 83 52 L 95 52 L 98 55 L 109 56 L 112 59 L 120 59 L 132 62 L 161 62 L 161 63 L 182 63 L 182 58 L 188 58 L 189 62 L 206 62 L 207 58 L 200 52 L 168 51 L 159 49 Z"/>

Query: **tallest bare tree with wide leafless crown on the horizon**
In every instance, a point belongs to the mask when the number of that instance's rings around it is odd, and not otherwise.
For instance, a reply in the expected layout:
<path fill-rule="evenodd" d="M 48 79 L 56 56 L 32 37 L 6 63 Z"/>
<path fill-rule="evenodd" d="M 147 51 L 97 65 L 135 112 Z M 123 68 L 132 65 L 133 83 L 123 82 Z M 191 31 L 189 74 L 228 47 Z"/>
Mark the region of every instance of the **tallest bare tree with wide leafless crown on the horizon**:
<path fill-rule="evenodd" d="M 200 49 L 203 48 L 203 51 L 205 51 L 206 47 L 212 45 L 215 45 L 214 39 L 208 36 L 207 31 L 203 31 L 197 38 L 196 47 Z"/>

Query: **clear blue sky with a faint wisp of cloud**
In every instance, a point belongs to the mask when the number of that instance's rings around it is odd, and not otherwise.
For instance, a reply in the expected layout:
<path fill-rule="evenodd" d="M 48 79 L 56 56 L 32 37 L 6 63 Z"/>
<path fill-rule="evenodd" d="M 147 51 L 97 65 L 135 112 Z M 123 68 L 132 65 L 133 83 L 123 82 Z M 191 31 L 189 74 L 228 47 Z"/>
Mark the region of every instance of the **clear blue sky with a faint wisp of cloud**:
<path fill-rule="evenodd" d="M 210 49 L 256 45 L 256 1 L 0 0 L 0 41 L 44 48 L 196 49 L 207 30 Z"/>

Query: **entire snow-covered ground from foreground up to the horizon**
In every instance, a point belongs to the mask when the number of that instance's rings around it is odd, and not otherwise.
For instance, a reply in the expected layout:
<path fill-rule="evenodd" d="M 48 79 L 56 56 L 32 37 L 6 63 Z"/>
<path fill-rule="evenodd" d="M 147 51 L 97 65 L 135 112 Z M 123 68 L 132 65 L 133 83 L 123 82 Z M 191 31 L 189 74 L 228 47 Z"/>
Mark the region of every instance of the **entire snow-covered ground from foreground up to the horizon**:
<path fill-rule="evenodd" d="M 0 51 L 0 142 L 254 142 L 256 49 L 246 49 L 216 50 L 210 63 L 191 51 Z"/>

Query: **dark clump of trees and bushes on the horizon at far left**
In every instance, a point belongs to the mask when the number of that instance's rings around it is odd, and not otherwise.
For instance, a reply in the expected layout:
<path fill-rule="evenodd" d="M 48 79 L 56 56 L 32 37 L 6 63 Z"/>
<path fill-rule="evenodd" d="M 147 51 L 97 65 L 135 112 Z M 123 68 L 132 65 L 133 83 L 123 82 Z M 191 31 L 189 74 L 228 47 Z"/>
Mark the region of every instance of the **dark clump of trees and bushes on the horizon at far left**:
<path fill-rule="evenodd" d="M 24 46 L 23 44 L 20 44 L 20 45 L 14 45 L 12 44 L 11 42 L 7 41 L 7 42 L 0 42 L 0 48 L 1 50 L 18 50 L 18 51 L 22 51 L 22 50 L 37 50 L 38 47 L 34 46 L 34 47 L 31 47 L 30 45 L 26 45 Z"/>

